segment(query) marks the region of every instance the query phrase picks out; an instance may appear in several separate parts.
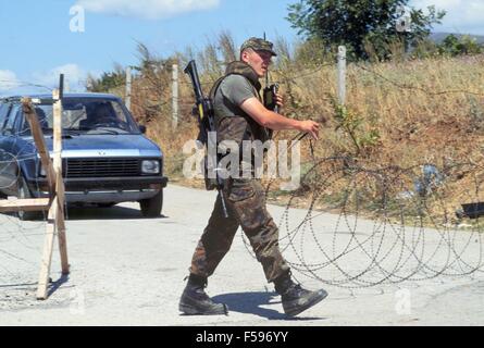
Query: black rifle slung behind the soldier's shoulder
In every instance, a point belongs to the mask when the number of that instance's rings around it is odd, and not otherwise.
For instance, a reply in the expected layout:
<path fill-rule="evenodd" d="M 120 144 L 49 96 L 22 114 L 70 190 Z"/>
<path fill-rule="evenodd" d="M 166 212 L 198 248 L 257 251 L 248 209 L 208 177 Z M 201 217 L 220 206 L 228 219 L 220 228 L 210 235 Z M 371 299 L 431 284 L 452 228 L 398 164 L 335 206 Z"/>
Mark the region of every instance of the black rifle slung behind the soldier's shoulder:
<path fill-rule="evenodd" d="M 200 129 L 199 135 L 198 135 L 198 140 L 201 144 L 203 144 L 203 146 L 207 149 L 207 147 L 209 146 L 209 132 L 216 132 L 215 130 L 215 114 L 213 111 L 213 103 L 210 98 L 206 98 L 203 96 L 203 91 L 201 90 L 200 78 L 198 77 L 197 64 L 195 63 L 195 61 L 190 61 L 188 63 L 187 67 L 185 67 L 184 72 L 185 72 L 185 74 L 190 76 L 191 85 L 194 87 L 194 92 L 195 92 L 195 98 L 196 98 L 195 104 L 196 104 L 196 110 L 198 113 L 198 126 Z M 214 145 L 216 146 L 216 139 L 215 139 Z M 222 192 L 224 183 L 223 183 L 223 179 L 219 176 L 219 159 L 216 159 L 216 163 L 212 163 L 212 165 L 214 164 L 214 167 L 215 167 L 214 169 L 215 182 L 213 182 L 207 177 L 207 175 L 209 174 L 208 160 L 209 159 L 206 157 L 206 159 L 204 159 L 206 187 L 208 190 L 216 189 L 219 191 L 220 198 L 222 200 L 222 208 L 223 208 L 224 215 L 225 215 L 225 217 L 228 217 L 227 208 L 225 206 L 225 199 L 224 199 L 224 196 Z"/>

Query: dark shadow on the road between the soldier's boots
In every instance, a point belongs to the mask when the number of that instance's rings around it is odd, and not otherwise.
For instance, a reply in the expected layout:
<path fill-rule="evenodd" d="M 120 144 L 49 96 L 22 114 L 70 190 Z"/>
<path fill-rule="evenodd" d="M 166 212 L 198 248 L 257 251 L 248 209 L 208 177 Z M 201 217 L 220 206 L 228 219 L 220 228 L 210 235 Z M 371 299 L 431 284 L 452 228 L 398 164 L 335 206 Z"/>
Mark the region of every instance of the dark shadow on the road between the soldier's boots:
<path fill-rule="evenodd" d="M 255 314 L 269 320 L 286 320 L 286 321 L 314 321 L 325 320 L 325 318 L 287 316 L 284 314 L 283 306 L 276 293 L 235 293 L 224 294 L 212 297 L 214 302 L 225 303 L 228 306 L 229 312 L 239 312 L 245 314 Z M 276 304 L 277 310 L 263 308 L 261 306 Z M 318 306 L 318 304 L 317 304 Z"/>

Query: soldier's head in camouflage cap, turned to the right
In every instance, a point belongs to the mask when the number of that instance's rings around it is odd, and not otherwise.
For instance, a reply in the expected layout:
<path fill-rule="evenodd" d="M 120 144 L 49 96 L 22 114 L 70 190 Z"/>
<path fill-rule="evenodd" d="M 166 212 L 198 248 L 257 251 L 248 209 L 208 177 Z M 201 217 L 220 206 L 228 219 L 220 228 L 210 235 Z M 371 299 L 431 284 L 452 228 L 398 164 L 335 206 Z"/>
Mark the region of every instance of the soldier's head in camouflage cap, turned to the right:
<path fill-rule="evenodd" d="M 259 77 L 263 77 L 271 65 L 272 57 L 277 55 L 270 41 L 251 37 L 240 47 L 240 60 L 249 64 Z"/>

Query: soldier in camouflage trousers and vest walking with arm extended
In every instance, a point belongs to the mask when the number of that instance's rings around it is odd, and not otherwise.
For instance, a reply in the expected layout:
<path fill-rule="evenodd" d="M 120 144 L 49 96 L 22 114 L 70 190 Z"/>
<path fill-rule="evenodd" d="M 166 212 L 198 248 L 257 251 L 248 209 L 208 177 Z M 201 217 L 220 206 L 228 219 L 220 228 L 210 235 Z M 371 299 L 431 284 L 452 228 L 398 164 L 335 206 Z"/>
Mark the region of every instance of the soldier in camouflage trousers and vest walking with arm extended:
<path fill-rule="evenodd" d="M 210 97 L 215 113 L 218 144 L 235 140 L 269 140 L 269 129 L 298 129 L 318 138 L 319 124 L 284 117 L 264 108 L 260 98 L 261 84 L 271 59 L 273 45 L 250 38 L 240 48 L 240 61 L 231 63 L 224 77 L 213 86 Z M 280 96 L 277 103 L 283 104 Z M 244 163 L 253 172 L 253 163 Z M 247 167 L 247 166 L 246 166 Z M 253 173 L 252 173 L 253 174 Z M 245 176 L 244 176 L 245 177 Z M 259 179 L 229 177 L 222 191 L 228 217 L 224 216 L 219 195 L 208 226 L 191 261 L 188 284 L 179 301 L 186 314 L 226 314 L 227 307 L 213 302 L 204 293 L 208 277 L 213 274 L 231 248 L 240 226 L 248 237 L 269 283 L 282 295 L 284 311 L 296 315 L 326 297 L 326 293 L 308 291 L 290 279 L 290 270 L 278 247 L 278 229 L 265 207 L 265 194 Z"/>

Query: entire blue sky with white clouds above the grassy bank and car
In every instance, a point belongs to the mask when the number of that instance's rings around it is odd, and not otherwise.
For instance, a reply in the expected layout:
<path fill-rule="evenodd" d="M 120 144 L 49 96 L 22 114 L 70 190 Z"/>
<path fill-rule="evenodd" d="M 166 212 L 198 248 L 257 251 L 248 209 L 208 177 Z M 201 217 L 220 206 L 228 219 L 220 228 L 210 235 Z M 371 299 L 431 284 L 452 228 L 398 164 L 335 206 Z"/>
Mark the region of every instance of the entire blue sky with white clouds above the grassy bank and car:
<path fill-rule="evenodd" d="M 135 64 L 136 41 L 162 57 L 190 46 L 202 48 L 228 30 L 236 44 L 247 37 L 284 36 L 296 40 L 285 20 L 297 0 L 0 0 L 0 95 L 17 92 L 22 82 L 53 87 L 65 73 L 82 89 L 87 73 L 99 75 L 113 64 Z M 412 0 L 448 11 L 439 32 L 484 35 L 483 0 Z M 80 7 L 80 8 L 73 8 Z M 72 32 L 85 13 L 84 32 Z M 77 26 L 78 27 L 78 26 Z M 25 90 L 25 89 L 23 89 Z M 26 90 L 32 90 L 27 87 Z M 34 89 L 39 91 L 39 89 Z"/>

